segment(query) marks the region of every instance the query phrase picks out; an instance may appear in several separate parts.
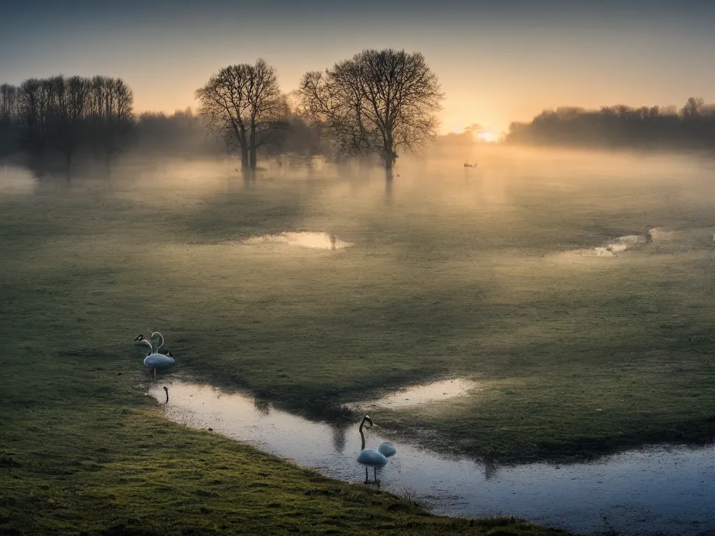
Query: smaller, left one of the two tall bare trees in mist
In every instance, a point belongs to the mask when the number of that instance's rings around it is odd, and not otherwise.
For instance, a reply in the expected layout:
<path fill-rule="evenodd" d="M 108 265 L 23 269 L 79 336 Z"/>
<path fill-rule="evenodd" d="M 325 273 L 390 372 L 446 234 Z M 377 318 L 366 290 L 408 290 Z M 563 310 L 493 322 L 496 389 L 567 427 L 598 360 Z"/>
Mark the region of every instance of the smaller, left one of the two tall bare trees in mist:
<path fill-rule="evenodd" d="M 227 147 L 240 149 L 244 170 L 256 168 L 258 149 L 274 143 L 286 127 L 287 101 L 276 70 L 264 59 L 220 69 L 195 95 L 209 129 Z"/>

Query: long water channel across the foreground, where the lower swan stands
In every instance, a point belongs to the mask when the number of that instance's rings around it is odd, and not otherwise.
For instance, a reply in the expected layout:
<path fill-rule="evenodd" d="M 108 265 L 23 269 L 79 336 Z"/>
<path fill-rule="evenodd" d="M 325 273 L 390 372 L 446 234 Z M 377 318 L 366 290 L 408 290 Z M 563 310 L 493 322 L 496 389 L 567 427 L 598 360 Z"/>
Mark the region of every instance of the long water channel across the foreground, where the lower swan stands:
<path fill-rule="evenodd" d="M 149 394 L 170 419 L 247 442 L 327 477 L 362 482 L 358 423 L 336 428 L 310 422 L 245 394 L 207 385 L 156 382 Z M 370 414 L 368 447 L 380 437 L 380 412 Z M 485 465 L 393 442 L 397 455 L 378 470 L 384 489 L 411 487 L 438 514 L 515 515 L 582 534 L 701 535 L 715 531 L 715 446 L 653 447 L 573 465 Z M 372 471 L 371 471 L 372 472 Z"/>

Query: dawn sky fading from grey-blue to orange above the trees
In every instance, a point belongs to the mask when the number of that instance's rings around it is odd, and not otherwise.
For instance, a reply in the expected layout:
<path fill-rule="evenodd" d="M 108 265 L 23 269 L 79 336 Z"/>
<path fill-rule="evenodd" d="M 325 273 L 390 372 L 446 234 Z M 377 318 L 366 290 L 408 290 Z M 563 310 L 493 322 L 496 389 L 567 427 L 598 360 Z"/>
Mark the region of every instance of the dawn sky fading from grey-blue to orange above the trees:
<path fill-rule="evenodd" d="M 366 48 L 422 52 L 443 131 L 543 109 L 715 102 L 715 1 L 3 0 L 0 83 L 104 74 L 137 111 L 196 106 L 222 66 L 265 58 L 284 91 Z"/>

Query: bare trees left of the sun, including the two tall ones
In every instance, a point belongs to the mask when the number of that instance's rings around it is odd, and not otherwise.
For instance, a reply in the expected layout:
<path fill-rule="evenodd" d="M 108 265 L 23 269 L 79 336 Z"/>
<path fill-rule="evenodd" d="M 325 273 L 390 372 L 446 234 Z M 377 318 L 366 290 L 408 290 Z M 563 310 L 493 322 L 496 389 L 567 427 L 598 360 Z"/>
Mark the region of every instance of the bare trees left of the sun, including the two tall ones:
<path fill-rule="evenodd" d="M 226 66 L 196 90 L 198 113 L 134 114 L 122 79 L 51 76 L 0 86 L 0 157 L 22 153 L 41 170 L 58 157 L 71 174 L 78 154 L 111 166 L 119 152 L 239 154 L 250 172 L 259 157 L 285 152 L 333 159 L 375 157 L 392 178 L 398 152 L 437 136 L 443 93 L 422 54 L 364 50 L 332 68 L 305 73 L 291 94 L 264 59 Z M 207 137 L 206 134 L 213 134 Z"/>

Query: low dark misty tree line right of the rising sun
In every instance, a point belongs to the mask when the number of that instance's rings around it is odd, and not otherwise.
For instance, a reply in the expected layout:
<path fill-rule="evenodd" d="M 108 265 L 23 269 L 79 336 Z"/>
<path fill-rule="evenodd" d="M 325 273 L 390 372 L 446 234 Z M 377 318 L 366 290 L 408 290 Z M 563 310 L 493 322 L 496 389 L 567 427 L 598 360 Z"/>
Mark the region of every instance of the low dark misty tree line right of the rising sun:
<path fill-rule="evenodd" d="M 598 110 L 561 107 L 545 110 L 531 123 L 512 123 L 509 144 L 555 144 L 580 147 L 707 148 L 715 142 L 715 105 L 690 97 L 676 106 Z"/>

